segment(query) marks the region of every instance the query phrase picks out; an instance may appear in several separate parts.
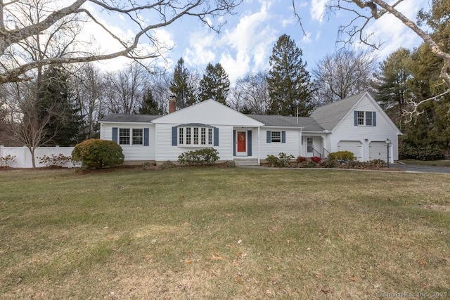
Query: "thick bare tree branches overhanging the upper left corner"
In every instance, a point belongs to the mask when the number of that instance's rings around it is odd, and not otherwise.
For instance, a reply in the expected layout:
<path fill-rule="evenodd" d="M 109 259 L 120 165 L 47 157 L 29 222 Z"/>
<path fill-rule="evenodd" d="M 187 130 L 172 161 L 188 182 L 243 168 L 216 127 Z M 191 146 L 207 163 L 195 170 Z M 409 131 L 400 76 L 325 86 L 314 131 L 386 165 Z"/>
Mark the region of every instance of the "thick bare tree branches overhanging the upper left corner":
<path fill-rule="evenodd" d="M 138 28 L 136 29 L 135 27 L 136 31 L 131 41 L 125 41 L 120 38 L 117 34 L 115 34 L 115 32 L 113 32 L 111 27 L 96 18 L 93 11 L 83 6 L 83 4 L 86 4 L 87 2 L 94 4 L 97 8 L 101 8 L 103 11 L 125 15 L 129 18 L 129 20 L 134 22 L 134 25 L 137 25 Z M 60 8 L 57 11 L 49 13 L 46 18 L 43 18 L 43 20 L 36 22 L 35 24 L 24 25 L 20 28 L 16 27 L 15 29 L 9 30 L 4 22 L 0 22 L 0 84 L 5 82 L 28 80 L 30 79 L 30 75 L 27 76 L 27 73 L 35 67 L 53 63 L 84 63 L 95 60 L 108 60 L 119 56 L 133 59 L 156 58 L 160 55 L 158 51 L 162 48 L 162 46 L 158 43 L 158 40 L 153 37 L 153 30 L 161 27 L 167 27 L 184 16 L 193 16 L 199 18 L 201 22 L 210 27 L 212 30 L 219 32 L 221 26 L 224 25 L 224 22 L 221 22 L 218 25 L 213 25 L 207 17 L 220 17 L 228 13 L 232 13 L 233 9 L 240 5 L 242 0 L 214 0 L 214 5 L 210 4 L 210 1 L 208 0 L 155 0 L 153 3 L 149 3 L 147 1 L 142 2 L 143 4 L 139 4 L 139 1 L 106 2 L 101 0 L 76 0 L 73 1 L 70 6 L 65 6 L 64 8 Z M 5 5 L 6 4 L 3 4 L 3 1 L 0 0 L 0 14 L 4 12 Z M 20 4 L 19 1 L 15 5 L 20 6 L 22 4 Z M 156 13 L 158 21 L 153 24 L 145 24 L 143 19 L 141 19 L 141 13 Z M 17 51 L 15 46 L 23 43 L 23 41 L 35 35 L 39 35 L 44 32 L 46 34 L 50 34 L 51 30 L 53 30 L 53 25 L 56 25 L 58 20 L 62 20 L 63 18 L 70 16 L 79 16 L 80 14 L 86 15 L 87 20 L 100 26 L 101 30 L 117 41 L 121 48 L 110 53 L 98 53 L 92 50 L 84 52 L 79 51 L 77 53 L 74 51 L 66 51 L 66 53 L 70 53 L 70 57 L 46 57 L 35 61 L 14 60 L 14 51 Z M 12 15 L 12 18 L 15 18 L 14 20 L 18 20 L 18 22 L 20 22 L 20 14 L 14 15 L 14 13 L 11 13 L 10 10 L 10 15 Z M 3 18 L 3 14 L 1 14 L 1 16 L 1 18 Z M 3 19 L 0 19 L 0 21 L 3 21 Z M 151 44 L 155 46 L 151 52 L 147 51 L 146 53 L 139 53 L 137 51 L 143 37 L 147 37 Z M 72 42 L 75 42 L 75 40 L 72 40 Z"/>

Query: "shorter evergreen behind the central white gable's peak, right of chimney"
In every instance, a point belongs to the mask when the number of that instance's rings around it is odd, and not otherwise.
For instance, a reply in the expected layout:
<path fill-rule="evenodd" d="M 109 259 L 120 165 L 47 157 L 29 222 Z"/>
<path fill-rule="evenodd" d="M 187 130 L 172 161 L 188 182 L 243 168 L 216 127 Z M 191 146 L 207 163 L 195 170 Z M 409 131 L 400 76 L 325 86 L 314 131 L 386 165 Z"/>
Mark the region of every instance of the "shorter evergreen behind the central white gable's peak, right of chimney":
<path fill-rule="evenodd" d="M 212 65 L 208 63 L 205 74 L 200 80 L 199 100 L 216 100 L 219 103 L 226 104 L 226 95 L 230 89 L 230 79 L 224 67 L 220 63 Z"/>

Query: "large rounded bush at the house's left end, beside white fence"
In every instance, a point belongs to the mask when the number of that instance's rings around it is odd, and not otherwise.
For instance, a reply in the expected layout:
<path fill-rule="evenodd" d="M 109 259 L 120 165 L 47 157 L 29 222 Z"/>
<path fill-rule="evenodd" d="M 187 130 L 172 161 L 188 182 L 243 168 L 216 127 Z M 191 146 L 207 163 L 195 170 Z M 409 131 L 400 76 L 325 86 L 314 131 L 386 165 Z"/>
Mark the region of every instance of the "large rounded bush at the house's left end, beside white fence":
<path fill-rule="evenodd" d="M 75 145 L 72 160 L 88 169 L 101 169 L 124 163 L 122 147 L 113 141 L 91 138 Z"/>

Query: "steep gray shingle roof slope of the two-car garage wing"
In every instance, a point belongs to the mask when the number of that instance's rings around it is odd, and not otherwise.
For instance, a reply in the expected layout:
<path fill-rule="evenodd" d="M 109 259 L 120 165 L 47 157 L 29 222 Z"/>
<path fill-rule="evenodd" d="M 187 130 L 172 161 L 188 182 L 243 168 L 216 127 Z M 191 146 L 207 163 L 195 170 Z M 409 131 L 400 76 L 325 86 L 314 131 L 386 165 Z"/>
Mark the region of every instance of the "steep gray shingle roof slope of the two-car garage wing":
<path fill-rule="evenodd" d="M 323 129 L 331 131 L 342 119 L 344 119 L 345 115 L 347 115 L 352 107 L 354 107 L 359 99 L 361 99 L 364 93 L 357 93 L 354 96 L 318 107 L 311 114 L 311 117 L 313 117 Z"/>

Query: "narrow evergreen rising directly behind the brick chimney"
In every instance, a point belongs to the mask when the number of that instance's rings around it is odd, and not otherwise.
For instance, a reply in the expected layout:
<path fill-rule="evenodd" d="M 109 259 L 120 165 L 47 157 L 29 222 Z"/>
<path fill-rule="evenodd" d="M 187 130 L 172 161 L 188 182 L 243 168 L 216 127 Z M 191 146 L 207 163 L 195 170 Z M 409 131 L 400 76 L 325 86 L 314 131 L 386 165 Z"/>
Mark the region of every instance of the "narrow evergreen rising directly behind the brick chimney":
<path fill-rule="evenodd" d="M 170 83 L 169 90 L 176 98 L 178 109 L 195 104 L 195 87 L 191 83 L 191 74 L 184 66 L 184 59 L 180 58 L 174 70 L 174 80 Z"/>

